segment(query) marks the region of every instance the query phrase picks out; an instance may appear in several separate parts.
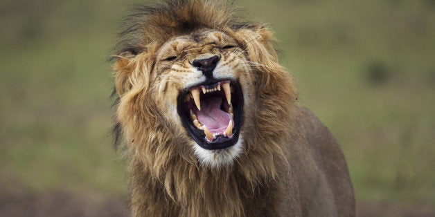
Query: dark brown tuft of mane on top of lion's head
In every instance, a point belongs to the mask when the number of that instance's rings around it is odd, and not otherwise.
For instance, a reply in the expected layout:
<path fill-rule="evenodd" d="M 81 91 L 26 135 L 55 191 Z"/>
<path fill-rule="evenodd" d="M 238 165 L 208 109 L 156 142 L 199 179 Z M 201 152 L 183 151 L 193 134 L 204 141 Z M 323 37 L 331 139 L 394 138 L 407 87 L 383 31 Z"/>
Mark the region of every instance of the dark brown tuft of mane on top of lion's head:
<path fill-rule="evenodd" d="M 163 44 L 170 37 L 201 28 L 238 29 L 247 23 L 236 17 L 231 1 L 168 0 L 133 6 L 124 18 L 114 55 L 137 55 L 152 43 Z"/>

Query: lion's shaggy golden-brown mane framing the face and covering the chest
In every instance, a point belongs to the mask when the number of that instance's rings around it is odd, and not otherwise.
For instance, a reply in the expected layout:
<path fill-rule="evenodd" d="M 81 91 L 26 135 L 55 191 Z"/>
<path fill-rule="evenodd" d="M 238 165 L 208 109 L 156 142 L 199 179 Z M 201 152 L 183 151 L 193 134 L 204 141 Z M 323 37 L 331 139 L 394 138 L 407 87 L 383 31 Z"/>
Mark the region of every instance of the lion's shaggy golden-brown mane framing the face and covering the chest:
<path fill-rule="evenodd" d="M 277 216 L 298 198 L 290 144 L 303 115 L 292 78 L 278 64 L 272 32 L 242 23 L 227 1 L 169 0 L 134 10 L 116 46 L 116 138 L 123 134 L 134 216 Z M 235 39 L 249 59 L 254 99 L 243 122 L 244 150 L 226 167 L 204 167 L 165 121 L 154 100 L 156 55 L 173 37 L 218 30 Z"/>

